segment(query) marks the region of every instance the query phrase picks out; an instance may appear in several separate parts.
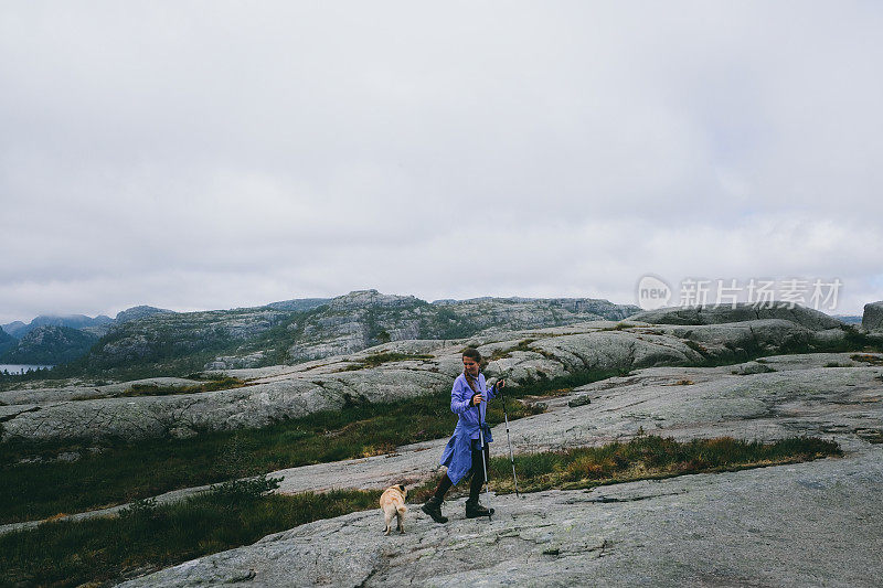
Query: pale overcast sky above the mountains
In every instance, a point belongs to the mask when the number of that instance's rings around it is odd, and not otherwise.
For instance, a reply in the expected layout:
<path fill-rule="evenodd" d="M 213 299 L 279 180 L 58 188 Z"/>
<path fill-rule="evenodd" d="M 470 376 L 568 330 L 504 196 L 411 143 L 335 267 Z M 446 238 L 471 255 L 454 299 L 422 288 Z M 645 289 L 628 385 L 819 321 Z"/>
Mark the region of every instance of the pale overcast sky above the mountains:
<path fill-rule="evenodd" d="M 646 274 L 883 299 L 879 2 L 0 7 L 0 322 Z"/>

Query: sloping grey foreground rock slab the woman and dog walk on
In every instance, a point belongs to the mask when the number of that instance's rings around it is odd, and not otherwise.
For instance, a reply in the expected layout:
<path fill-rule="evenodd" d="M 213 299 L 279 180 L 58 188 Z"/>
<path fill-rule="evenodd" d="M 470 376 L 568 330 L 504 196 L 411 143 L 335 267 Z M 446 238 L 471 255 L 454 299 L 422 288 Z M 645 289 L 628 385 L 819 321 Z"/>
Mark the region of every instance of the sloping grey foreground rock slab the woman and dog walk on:
<path fill-rule="evenodd" d="M 491 496 L 491 522 L 411 505 L 269 535 L 123 584 L 141 586 L 876 586 L 883 449 L 594 491 Z"/>

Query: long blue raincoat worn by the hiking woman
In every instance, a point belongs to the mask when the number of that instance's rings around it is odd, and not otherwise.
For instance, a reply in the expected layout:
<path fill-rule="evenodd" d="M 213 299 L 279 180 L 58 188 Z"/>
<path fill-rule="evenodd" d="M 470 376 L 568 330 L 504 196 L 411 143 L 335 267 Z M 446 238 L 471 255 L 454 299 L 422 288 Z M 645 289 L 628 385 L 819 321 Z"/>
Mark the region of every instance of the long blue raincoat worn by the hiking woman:
<path fill-rule="evenodd" d="M 485 374 L 481 373 L 475 379 L 475 385 L 476 391 L 485 397 L 485 402 L 478 406 L 470 405 L 475 392 L 469 387 L 464 374 L 457 376 L 457 379 L 454 381 L 454 388 L 450 391 L 450 409 L 459 415 L 460 418 L 457 420 L 454 436 L 448 441 L 448 445 L 445 446 L 439 464 L 448 467 L 448 478 L 454 484 L 462 480 L 472 468 L 472 439 L 479 438 L 479 410 L 481 411 L 481 423 L 485 424 L 482 429 L 485 442 L 489 443 L 493 440 L 485 416 L 488 400 L 496 396 L 496 386 L 488 388 L 485 384 Z M 478 445 L 479 441 L 476 441 L 476 446 Z"/>

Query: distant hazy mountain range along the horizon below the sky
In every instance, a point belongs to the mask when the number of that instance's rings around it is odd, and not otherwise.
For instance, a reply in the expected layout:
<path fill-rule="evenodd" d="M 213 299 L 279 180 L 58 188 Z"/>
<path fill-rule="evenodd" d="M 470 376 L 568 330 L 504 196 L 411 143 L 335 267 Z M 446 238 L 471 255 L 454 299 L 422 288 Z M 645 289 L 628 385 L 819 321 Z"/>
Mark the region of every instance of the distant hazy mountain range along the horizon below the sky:
<path fill-rule="evenodd" d="M 359 290 L 263 307 L 173 312 L 135 307 L 116 319 L 38 317 L 3 325 L 20 340 L 0 363 L 67 365 L 64 375 L 140 377 L 224 367 L 294 364 L 405 339 L 459 339 L 487 330 L 621 320 L 640 309 L 588 298 L 476 298 L 427 302 Z M 99 336 L 86 341 L 64 329 Z M 36 334 L 25 340 L 25 335 Z M 2 335 L 0 335 L 2 338 Z M 13 360 L 14 361 L 11 361 Z M 40 360 L 39 362 L 36 360 Z M 49 361 L 51 360 L 51 361 Z"/>

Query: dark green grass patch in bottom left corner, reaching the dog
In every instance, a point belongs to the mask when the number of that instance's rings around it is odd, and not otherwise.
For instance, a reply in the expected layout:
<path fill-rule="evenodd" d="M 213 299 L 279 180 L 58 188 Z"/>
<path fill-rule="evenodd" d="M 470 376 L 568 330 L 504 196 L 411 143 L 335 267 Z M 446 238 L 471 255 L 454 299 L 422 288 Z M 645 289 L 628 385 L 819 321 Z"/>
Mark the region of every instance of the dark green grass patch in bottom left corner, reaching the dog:
<path fill-rule="evenodd" d="M 264 495 L 266 478 L 227 483 L 173 504 L 141 501 L 118 517 L 44 523 L 0 536 L 0 585 L 116 582 L 270 533 L 377 507 L 380 492 Z M 377 521 L 380 532 L 380 521 Z"/>

